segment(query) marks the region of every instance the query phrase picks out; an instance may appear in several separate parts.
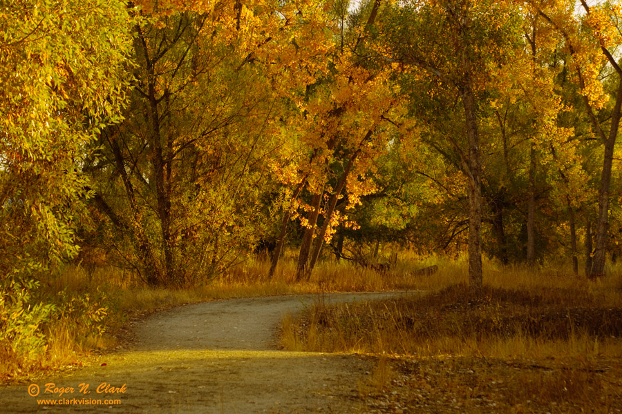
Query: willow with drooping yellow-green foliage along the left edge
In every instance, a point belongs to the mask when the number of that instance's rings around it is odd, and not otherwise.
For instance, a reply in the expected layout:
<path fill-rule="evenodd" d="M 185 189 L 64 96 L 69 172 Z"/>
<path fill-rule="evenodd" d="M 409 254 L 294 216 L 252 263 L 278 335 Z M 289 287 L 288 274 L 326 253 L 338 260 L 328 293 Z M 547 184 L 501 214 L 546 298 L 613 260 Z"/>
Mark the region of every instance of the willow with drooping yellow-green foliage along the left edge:
<path fill-rule="evenodd" d="M 37 331 L 33 280 L 77 253 L 77 164 L 120 119 L 129 30 L 124 1 L 0 1 L 0 348 Z"/>

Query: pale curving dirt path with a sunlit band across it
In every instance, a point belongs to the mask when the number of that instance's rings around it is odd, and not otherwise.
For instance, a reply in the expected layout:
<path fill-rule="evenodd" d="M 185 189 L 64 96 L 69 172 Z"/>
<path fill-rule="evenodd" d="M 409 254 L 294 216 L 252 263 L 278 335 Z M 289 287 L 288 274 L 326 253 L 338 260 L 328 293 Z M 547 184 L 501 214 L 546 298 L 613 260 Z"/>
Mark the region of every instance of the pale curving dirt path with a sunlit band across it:
<path fill-rule="evenodd" d="M 106 355 L 98 366 L 65 377 L 0 388 L 0 411 L 9 413 L 351 413 L 365 412 L 359 380 L 370 370 L 353 355 L 279 351 L 281 317 L 321 299 L 327 304 L 406 293 L 263 297 L 206 302 L 151 315 L 133 326 L 133 349 Z M 73 388 L 46 393 L 46 384 Z M 100 384 L 117 393 L 97 393 Z M 80 393 L 80 384 L 88 384 Z M 31 386 L 30 391 L 36 391 Z M 84 387 L 84 385 L 83 385 Z M 105 387 L 105 385 L 104 385 Z M 124 389 L 123 389 L 124 387 Z M 122 392 L 124 391 L 124 392 Z M 39 405 L 68 400 L 72 406 Z M 79 402 L 82 401 L 82 405 Z M 67 403 L 66 403 L 67 404 Z"/>

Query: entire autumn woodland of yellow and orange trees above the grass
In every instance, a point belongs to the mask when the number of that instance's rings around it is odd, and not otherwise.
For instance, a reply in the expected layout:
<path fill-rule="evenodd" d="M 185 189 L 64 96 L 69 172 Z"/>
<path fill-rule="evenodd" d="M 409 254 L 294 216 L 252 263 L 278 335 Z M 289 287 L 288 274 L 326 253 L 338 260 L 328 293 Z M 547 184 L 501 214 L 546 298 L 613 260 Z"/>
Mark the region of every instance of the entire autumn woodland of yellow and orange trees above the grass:
<path fill-rule="evenodd" d="M 70 311 L 41 281 L 68 264 L 191 288 L 253 255 L 271 278 L 287 251 L 305 282 L 323 260 L 390 271 L 390 246 L 466 254 L 475 288 L 482 256 L 610 277 L 621 19 L 619 1 L 0 0 L 0 357 L 46 347 Z M 101 333 L 106 306 L 68 301 Z"/>

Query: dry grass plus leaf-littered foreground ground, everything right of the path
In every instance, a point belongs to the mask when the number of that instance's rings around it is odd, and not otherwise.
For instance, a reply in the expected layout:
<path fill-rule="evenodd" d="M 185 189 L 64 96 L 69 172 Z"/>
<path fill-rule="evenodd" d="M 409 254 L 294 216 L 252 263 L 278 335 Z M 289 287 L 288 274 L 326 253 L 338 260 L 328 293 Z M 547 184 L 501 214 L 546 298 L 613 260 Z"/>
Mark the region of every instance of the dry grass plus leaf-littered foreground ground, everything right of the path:
<path fill-rule="evenodd" d="M 317 304 L 285 318 L 282 342 L 370 355 L 377 371 L 392 371 L 390 386 L 375 372 L 359 386 L 372 411 L 622 412 L 621 274 L 569 274 L 489 263 L 480 292 L 455 284 L 411 298 Z M 446 286 L 450 278 L 439 277 Z"/>

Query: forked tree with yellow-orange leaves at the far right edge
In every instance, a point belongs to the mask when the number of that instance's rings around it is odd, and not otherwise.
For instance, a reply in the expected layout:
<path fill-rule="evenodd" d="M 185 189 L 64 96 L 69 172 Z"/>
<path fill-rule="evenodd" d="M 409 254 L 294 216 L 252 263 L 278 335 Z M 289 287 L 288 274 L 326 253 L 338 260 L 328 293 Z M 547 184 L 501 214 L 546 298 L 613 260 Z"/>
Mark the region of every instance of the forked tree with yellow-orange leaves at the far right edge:
<path fill-rule="evenodd" d="M 589 6 L 581 0 L 582 11 L 578 12 L 574 1 L 530 1 L 529 4 L 562 34 L 572 58 L 569 66 L 580 88 L 583 110 L 592 124 L 592 133 L 603 144 L 594 260 L 588 269 L 592 277 L 600 276 L 605 270 L 613 155 L 622 116 L 622 68 L 615 57 L 621 41 L 622 5 L 612 1 Z M 603 71 L 615 79 L 611 97 L 603 88 Z"/>

